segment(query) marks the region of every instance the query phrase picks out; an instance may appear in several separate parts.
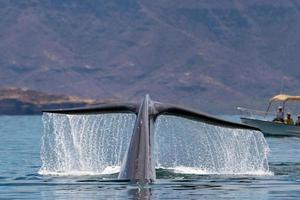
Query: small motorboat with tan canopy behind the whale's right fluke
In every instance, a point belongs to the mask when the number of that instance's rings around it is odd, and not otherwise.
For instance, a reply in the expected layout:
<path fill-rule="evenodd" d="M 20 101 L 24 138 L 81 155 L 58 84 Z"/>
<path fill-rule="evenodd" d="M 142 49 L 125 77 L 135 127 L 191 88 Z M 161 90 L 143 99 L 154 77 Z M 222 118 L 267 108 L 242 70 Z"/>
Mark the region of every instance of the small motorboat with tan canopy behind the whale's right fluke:
<path fill-rule="evenodd" d="M 268 117 L 269 109 L 273 102 L 282 102 L 283 112 L 285 111 L 285 104 L 287 101 L 300 101 L 300 96 L 290 95 L 276 95 L 269 100 L 268 109 L 266 112 L 255 111 L 246 108 L 238 107 L 243 114 L 247 114 L 247 117 L 241 117 L 241 121 L 244 124 L 253 126 L 261 130 L 266 136 L 296 136 L 300 137 L 300 126 L 287 125 L 282 122 L 272 121 L 272 118 Z M 275 114 L 273 113 L 274 117 Z"/>

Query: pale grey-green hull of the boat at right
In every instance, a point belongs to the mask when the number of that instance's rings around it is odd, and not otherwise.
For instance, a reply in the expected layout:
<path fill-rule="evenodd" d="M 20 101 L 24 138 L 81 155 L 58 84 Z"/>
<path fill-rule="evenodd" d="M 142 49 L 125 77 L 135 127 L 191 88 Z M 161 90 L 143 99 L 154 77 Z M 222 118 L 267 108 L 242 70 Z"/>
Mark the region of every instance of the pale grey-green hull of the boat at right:
<path fill-rule="evenodd" d="M 246 125 L 258 128 L 266 136 L 300 137 L 300 126 L 243 117 L 241 121 Z"/>

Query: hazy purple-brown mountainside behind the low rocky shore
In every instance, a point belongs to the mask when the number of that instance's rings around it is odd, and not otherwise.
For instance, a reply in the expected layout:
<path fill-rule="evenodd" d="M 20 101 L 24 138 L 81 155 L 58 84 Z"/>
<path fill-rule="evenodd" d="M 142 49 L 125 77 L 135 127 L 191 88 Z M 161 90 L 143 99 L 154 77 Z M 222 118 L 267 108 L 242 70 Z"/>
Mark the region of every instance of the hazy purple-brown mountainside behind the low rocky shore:
<path fill-rule="evenodd" d="M 2 1 L 0 85 L 208 112 L 299 94 L 296 1 Z M 287 84 L 288 83 L 288 84 Z"/>

